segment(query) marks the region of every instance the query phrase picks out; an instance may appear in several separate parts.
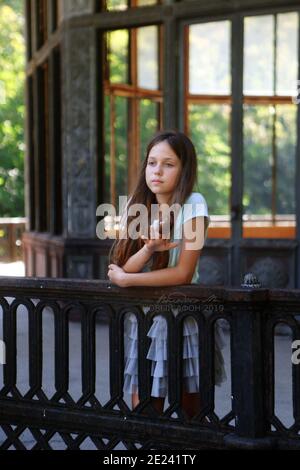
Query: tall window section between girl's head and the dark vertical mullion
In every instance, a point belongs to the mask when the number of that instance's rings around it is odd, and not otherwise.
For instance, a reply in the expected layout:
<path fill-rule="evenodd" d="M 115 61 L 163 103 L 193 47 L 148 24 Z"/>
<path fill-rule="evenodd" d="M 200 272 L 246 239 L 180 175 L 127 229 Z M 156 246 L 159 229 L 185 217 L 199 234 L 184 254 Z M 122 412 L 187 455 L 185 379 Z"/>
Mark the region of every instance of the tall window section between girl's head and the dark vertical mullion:
<path fill-rule="evenodd" d="M 230 21 L 188 25 L 184 40 L 184 129 L 197 151 L 199 186 L 195 190 L 205 195 L 214 215 L 211 225 L 226 224 L 222 232 L 226 238 L 231 187 Z"/>

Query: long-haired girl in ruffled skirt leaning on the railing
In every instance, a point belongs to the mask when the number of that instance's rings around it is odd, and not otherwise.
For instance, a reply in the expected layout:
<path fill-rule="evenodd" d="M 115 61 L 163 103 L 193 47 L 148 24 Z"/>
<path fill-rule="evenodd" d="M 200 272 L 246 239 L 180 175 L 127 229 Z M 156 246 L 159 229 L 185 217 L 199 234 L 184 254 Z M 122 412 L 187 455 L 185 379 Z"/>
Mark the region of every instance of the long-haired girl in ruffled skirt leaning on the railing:
<path fill-rule="evenodd" d="M 150 234 L 148 238 L 117 239 L 110 251 L 109 279 L 120 287 L 129 286 L 174 286 L 198 282 L 197 262 L 201 248 L 190 249 L 191 238 L 185 234 L 197 233 L 204 227 L 205 239 L 209 225 L 209 216 L 204 197 L 192 192 L 196 184 L 197 157 L 190 139 L 178 131 L 160 131 L 147 147 L 147 155 L 141 172 L 128 202 L 141 203 L 147 207 L 149 214 Z M 158 223 L 151 225 L 151 204 L 191 204 L 192 211 L 180 211 L 176 219 L 170 221 L 171 240 L 158 238 L 161 234 Z M 135 217 L 127 217 L 127 224 Z M 167 221 L 169 222 L 169 221 Z M 160 224 L 162 221 L 160 222 Z M 160 225 L 161 226 L 161 225 Z M 182 238 L 174 241 L 174 233 L 182 228 Z M 174 232 L 175 231 L 175 232 Z M 191 246 L 191 245 L 190 245 Z M 150 272 L 141 272 L 152 260 Z M 148 309 L 149 310 L 149 309 Z M 144 307 L 147 313 L 147 308 Z M 199 411 L 199 376 L 198 376 L 198 330 L 196 322 L 189 318 L 183 328 L 183 371 L 184 392 L 182 407 L 193 416 Z M 167 395 L 167 323 L 161 315 L 154 317 L 148 332 L 151 345 L 147 358 L 152 361 L 152 391 L 155 397 L 153 404 L 163 411 L 164 398 Z M 216 335 L 215 370 L 216 383 L 225 378 L 223 357 L 220 352 L 222 344 Z M 137 320 L 130 315 L 125 322 L 125 380 L 124 391 L 132 394 L 132 406 L 139 403 L 137 381 Z"/>

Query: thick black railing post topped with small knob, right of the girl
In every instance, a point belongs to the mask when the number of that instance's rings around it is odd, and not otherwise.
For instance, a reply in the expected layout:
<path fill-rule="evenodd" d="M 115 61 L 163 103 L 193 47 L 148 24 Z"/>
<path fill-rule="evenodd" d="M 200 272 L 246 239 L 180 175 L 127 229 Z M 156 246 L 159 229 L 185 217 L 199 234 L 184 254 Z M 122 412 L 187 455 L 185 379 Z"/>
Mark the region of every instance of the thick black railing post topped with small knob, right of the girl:
<path fill-rule="evenodd" d="M 248 278 L 246 277 L 248 276 Z M 232 299 L 232 392 L 235 436 L 245 447 L 268 445 L 264 386 L 263 328 L 268 291 L 253 291 L 258 281 L 245 276 L 245 292 Z M 230 440 L 230 439 L 229 439 Z M 268 441 L 268 439 L 267 439 Z M 269 442 L 271 445 L 271 441 Z"/>

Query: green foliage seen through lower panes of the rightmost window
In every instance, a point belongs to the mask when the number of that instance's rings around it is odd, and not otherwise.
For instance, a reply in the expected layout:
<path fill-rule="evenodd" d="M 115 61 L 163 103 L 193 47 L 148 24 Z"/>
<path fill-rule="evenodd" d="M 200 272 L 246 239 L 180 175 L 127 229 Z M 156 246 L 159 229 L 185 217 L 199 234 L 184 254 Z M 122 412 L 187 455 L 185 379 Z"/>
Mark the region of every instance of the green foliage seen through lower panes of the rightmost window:
<path fill-rule="evenodd" d="M 295 211 L 296 105 L 244 108 L 244 212 L 270 214 L 275 119 L 276 212 Z"/>

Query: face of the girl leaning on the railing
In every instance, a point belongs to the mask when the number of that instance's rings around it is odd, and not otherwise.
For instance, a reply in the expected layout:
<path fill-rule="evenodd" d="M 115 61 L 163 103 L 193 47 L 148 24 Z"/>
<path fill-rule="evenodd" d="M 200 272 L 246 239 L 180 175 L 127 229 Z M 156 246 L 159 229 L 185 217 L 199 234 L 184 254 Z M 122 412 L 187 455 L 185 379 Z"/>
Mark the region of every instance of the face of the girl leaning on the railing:
<path fill-rule="evenodd" d="M 174 192 L 182 169 L 181 160 L 167 141 L 159 142 L 150 150 L 146 166 L 149 189 L 164 200 Z M 162 200 L 162 198 L 160 198 Z"/>

